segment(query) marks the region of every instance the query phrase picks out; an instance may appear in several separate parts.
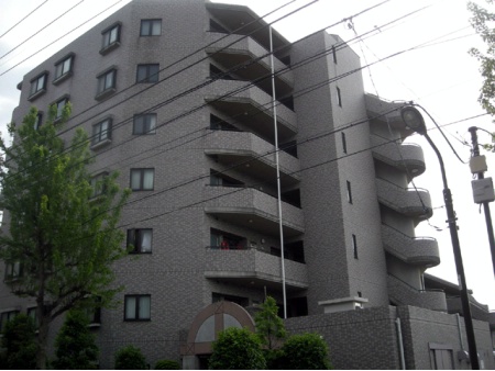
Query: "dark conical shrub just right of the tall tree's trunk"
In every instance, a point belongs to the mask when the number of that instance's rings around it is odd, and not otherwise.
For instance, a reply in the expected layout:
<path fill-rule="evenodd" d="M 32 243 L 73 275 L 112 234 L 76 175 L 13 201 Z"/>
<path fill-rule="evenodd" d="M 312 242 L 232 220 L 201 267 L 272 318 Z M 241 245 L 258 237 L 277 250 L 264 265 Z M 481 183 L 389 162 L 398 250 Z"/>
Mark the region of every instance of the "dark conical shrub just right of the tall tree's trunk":
<path fill-rule="evenodd" d="M 98 366 L 98 347 L 91 334 L 89 319 L 82 311 L 69 311 L 55 339 L 57 370 L 95 370 Z"/>

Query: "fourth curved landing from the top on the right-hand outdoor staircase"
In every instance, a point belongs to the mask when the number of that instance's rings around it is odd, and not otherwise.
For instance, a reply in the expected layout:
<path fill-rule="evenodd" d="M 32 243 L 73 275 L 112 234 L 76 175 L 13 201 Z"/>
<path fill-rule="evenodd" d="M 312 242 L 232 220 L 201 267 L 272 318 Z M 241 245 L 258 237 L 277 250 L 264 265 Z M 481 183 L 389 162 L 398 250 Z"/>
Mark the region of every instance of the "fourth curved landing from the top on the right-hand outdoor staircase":
<path fill-rule="evenodd" d="M 382 224 L 382 239 L 385 251 L 409 265 L 430 268 L 440 263 L 440 252 L 435 238 L 410 237 Z"/>

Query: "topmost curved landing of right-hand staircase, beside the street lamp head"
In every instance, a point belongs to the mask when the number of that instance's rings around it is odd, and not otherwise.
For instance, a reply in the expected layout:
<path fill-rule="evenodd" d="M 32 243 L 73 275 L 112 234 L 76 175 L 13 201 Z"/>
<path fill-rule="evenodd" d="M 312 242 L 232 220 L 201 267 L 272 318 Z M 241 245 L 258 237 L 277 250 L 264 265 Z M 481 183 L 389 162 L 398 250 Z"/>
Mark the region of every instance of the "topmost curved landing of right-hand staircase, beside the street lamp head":
<path fill-rule="evenodd" d="M 373 122 L 389 125 L 398 131 L 402 138 L 415 133 L 406 126 L 400 116 L 400 108 L 405 105 L 404 103 L 388 102 L 373 94 L 365 94 L 364 101 L 367 116 Z"/>

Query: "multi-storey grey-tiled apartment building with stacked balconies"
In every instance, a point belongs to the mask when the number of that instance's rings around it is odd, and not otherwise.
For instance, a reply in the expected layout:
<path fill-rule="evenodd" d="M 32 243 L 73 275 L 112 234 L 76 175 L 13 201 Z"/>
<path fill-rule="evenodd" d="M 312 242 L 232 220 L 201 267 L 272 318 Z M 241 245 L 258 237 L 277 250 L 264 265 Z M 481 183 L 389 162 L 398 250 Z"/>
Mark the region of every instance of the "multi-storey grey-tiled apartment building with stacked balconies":
<path fill-rule="evenodd" d="M 428 191 L 408 188 L 422 150 L 360 68 L 339 36 L 289 43 L 245 7 L 135 0 L 24 77 L 13 121 L 35 105 L 42 125 L 70 101 L 95 179 L 118 170 L 133 191 L 121 225 L 135 250 L 114 267 L 122 305 L 92 324 L 102 368 L 130 344 L 151 364 L 206 367 L 216 331 L 253 328 L 265 295 L 294 333 L 324 334 L 338 368 L 444 355 L 465 367 L 462 326 L 425 288 L 440 258 L 415 237 L 432 213 Z M 0 296 L 3 321 L 33 307 L 6 283 Z M 418 335 L 425 321 L 442 330 Z M 490 326 L 475 325 L 493 366 Z"/>

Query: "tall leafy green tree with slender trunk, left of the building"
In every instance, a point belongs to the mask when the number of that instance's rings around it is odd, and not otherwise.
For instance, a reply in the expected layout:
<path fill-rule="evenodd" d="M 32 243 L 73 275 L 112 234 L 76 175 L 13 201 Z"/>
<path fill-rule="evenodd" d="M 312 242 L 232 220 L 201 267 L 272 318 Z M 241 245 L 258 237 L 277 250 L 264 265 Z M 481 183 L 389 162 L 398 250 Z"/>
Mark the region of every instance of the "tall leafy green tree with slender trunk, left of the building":
<path fill-rule="evenodd" d="M 69 114 L 66 104 L 55 119 L 56 108 L 51 106 L 47 121 L 35 128 L 33 108 L 21 125 L 9 126 L 11 147 L 0 139 L 0 207 L 9 221 L 0 235 L 0 259 L 22 267 L 7 281 L 11 291 L 36 301 L 40 369 L 46 363 L 47 335 L 56 317 L 75 306 L 114 303 L 121 289 L 112 286 L 111 266 L 127 252 L 117 223 L 130 191 L 119 191 L 117 173 L 91 187 L 87 135 L 77 128 L 66 146 L 57 134 Z M 95 191 L 99 196 L 90 200 Z"/>

